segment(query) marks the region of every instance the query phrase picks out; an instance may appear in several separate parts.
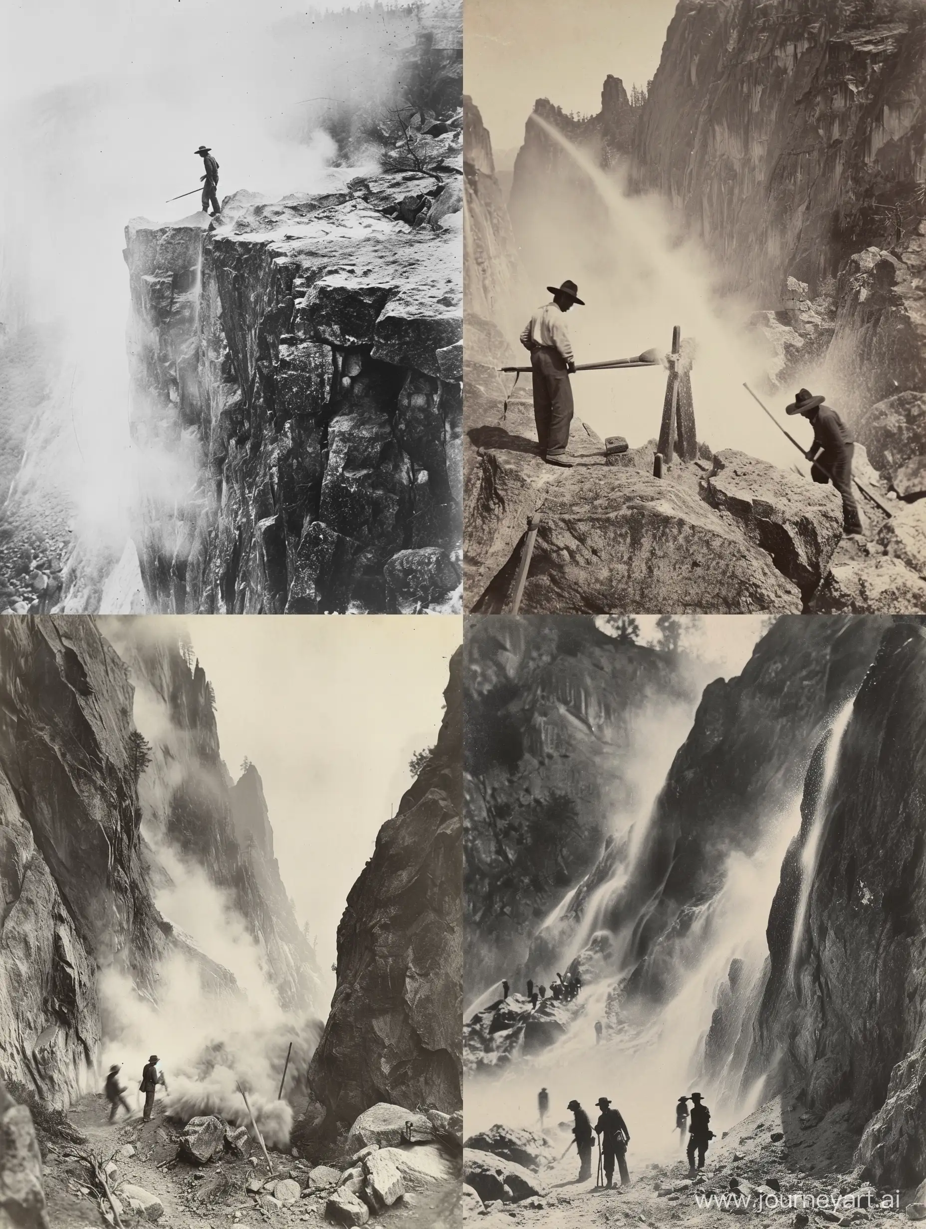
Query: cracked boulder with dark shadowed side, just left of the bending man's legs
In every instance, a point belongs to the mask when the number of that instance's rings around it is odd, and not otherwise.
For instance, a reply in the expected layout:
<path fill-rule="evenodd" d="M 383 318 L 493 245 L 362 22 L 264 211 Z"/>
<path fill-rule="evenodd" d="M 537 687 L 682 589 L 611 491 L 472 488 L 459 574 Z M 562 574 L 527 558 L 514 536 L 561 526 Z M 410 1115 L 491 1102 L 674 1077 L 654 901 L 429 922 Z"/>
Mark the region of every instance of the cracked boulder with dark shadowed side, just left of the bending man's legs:
<path fill-rule="evenodd" d="M 724 449 L 714 454 L 707 500 L 735 517 L 805 597 L 817 589 L 842 537 L 842 500 L 831 484 Z"/>

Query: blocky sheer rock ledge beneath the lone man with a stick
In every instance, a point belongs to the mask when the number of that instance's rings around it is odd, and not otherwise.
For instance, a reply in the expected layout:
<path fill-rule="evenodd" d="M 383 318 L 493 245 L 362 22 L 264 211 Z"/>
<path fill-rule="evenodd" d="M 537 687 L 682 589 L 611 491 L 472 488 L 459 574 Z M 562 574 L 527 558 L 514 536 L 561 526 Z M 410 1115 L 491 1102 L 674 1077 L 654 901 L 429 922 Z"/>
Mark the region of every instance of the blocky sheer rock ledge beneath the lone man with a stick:
<path fill-rule="evenodd" d="M 128 225 L 135 540 L 155 610 L 455 607 L 455 175 L 428 222 L 402 213 L 434 189 L 406 173 L 278 203 L 242 192 L 214 224 Z"/>

